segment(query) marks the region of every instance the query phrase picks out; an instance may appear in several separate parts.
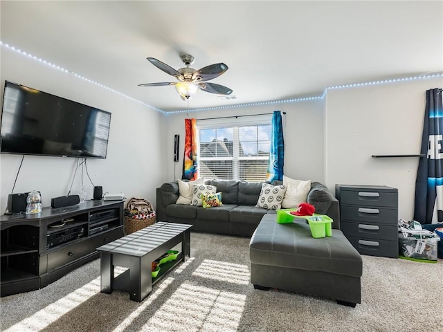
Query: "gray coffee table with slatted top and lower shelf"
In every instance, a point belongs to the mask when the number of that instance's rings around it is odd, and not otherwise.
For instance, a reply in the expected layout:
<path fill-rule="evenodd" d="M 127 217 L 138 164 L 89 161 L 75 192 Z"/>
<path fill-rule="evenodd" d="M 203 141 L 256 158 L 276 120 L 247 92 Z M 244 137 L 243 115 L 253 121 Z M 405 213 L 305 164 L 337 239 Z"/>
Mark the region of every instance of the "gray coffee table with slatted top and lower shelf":
<path fill-rule="evenodd" d="M 98 247 L 101 292 L 111 294 L 114 290 L 126 291 L 129 292 L 130 299 L 141 302 L 152 291 L 152 261 L 180 242 L 181 255 L 174 266 L 190 257 L 191 227 L 192 225 L 183 223 L 154 223 L 143 230 Z M 123 266 L 128 270 L 114 277 L 114 266 Z M 160 276 L 156 277 L 155 281 L 159 278 Z"/>

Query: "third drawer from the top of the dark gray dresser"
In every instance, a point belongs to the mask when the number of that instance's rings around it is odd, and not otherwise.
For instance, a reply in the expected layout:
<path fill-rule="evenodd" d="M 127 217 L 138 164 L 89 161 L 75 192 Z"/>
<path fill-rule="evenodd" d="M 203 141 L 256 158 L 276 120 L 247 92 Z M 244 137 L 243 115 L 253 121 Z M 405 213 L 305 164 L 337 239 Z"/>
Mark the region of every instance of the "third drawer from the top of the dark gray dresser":
<path fill-rule="evenodd" d="M 390 241 L 395 241 L 399 234 L 397 225 L 386 224 L 374 225 L 372 223 L 341 221 L 340 229 L 345 236 Z"/>

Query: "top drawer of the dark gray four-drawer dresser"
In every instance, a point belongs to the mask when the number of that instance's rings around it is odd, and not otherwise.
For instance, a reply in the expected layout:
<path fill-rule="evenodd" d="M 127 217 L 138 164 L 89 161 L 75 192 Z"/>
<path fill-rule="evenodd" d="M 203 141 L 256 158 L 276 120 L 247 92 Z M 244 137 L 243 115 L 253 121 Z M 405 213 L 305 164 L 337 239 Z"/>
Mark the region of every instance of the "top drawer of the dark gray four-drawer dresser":
<path fill-rule="evenodd" d="M 386 192 L 361 188 L 360 190 L 341 190 L 340 203 L 359 206 L 381 206 L 397 208 L 398 192 Z"/>

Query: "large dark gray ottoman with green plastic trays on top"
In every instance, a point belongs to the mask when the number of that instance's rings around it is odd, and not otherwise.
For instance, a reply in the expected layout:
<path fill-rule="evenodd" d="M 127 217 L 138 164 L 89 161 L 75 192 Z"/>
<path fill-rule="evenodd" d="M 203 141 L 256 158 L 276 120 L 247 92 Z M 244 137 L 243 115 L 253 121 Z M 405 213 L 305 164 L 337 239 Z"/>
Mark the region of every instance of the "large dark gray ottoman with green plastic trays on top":
<path fill-rule="evenodd" d="M 278 288 L 361 303 L 362 260 L 340 230 L 314 239 L 304 219 L 277 223 L 265 214 L 249 244 L 251 283 L 258 289 Z"/>

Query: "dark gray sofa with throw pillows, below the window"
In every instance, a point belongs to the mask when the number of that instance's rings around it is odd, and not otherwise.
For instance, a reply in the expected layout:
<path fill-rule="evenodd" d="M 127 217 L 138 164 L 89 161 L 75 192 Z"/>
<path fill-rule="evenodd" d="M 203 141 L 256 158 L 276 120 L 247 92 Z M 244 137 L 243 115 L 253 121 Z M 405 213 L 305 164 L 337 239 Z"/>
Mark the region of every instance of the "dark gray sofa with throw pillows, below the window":
<path fill-rule="evenodd" d="M 192 231 L 231 234 L 251 237 L 265 214 L 275 214 L 275 210 L 256 208 L 262 183 L 246 181 L 208 180 L 221 192 L 223 206 L 202 208 L 195 205 L 176 204 L 179 198 L 179 185 L 176 181 L 163 183 L 156 189 L 156 213 L 158 221 L 192 224 Z M 275 183 L 280 184 L 280 183 Z M 308 203 L 316 208 L 316 213 L 327 214 L 340 228 L 338 201 L 325 185 L 311 183 L 307 196 Z"/>

